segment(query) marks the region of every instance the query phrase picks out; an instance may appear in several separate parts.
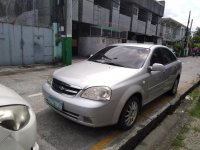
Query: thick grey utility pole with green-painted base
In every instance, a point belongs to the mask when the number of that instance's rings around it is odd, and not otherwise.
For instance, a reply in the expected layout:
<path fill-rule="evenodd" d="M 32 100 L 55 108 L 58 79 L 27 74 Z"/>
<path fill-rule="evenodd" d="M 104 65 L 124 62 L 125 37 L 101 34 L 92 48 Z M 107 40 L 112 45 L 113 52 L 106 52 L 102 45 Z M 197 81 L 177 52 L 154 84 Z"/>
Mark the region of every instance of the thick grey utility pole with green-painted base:
<path fill-rule="evenodd" d="M 72 63 L 72 0 L 65 0 L 65 35 L 62 36 L 63 63 Z"/>

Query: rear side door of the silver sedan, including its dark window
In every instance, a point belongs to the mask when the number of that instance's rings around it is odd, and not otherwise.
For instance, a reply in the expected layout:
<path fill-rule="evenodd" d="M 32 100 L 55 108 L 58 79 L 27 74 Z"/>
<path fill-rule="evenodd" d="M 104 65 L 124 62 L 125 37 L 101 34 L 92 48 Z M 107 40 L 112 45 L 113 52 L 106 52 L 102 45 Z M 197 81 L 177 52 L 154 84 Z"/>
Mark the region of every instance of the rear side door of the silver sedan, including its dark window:
<path fill-rule="evenodd" d="M 170 50 L 167 48 L 161 48 L 161 55 L 163 59 L 163 65 L 165 65 L 165 82 L 163 85 L 163 89 L 165 92 L 171 89 L 171 87 L 174 84 L 174 81 L 176 79 L 176 72 L 177 72 L 177 66 L 176 66 L 176 57 Z"/>

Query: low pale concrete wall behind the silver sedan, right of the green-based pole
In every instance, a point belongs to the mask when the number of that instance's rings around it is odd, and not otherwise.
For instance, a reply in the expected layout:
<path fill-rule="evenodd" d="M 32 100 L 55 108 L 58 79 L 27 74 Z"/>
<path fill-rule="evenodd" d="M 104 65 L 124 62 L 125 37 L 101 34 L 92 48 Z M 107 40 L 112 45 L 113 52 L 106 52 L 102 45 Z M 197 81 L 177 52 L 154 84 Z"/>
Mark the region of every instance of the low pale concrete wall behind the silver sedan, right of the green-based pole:
<path fill-rule="evenodd" d="M 108 45 L 120 42 L 120 39 L 106 37 L 80 37 L 78 53 L 80 56 L 88 57 Z"/>

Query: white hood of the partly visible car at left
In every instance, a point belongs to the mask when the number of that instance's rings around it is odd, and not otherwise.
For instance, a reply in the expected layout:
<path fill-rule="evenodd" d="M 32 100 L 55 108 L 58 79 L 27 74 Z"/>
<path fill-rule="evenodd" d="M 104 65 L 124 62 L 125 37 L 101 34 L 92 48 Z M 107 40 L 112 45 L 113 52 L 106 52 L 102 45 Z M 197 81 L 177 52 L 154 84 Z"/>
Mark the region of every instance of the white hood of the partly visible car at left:
<path fill-rule="evenodd" d="M 0 84 L 0 107 L 6 105 L 26 105 L 30 106 L 15 91 Z"/>

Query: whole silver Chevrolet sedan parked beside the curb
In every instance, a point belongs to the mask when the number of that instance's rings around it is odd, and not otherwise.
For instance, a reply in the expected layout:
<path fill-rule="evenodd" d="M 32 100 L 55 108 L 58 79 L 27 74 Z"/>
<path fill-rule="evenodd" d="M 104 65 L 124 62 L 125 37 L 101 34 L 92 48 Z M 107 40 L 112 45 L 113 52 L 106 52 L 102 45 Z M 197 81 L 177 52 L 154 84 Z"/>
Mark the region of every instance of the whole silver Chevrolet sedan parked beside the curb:
<path fill-rule="evenodd" d="M 181 68 L 165 46 L 115 44 L 56 70 L 43 94 L 50 107 L 77 123 L 130 129 L 145 104 L 176 94 Z"/>

